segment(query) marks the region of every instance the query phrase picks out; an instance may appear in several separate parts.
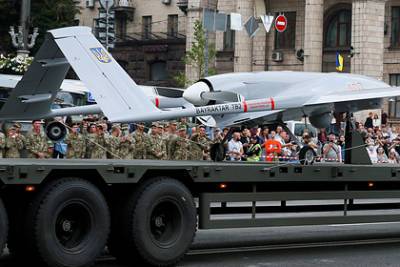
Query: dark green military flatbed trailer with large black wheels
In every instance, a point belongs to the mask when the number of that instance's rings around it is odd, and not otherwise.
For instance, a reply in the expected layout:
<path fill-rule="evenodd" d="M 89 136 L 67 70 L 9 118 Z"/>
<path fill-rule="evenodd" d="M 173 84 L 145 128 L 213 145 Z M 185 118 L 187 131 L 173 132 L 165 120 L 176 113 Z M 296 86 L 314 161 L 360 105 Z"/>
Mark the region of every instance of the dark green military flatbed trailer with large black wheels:
<path fill-rule="evenodd" d="M 400 222 L 394 164 L 1 159 L 0 185 L 0 249 L 51 267 L 106 246 L 174 265 L 197 229 Z"/>

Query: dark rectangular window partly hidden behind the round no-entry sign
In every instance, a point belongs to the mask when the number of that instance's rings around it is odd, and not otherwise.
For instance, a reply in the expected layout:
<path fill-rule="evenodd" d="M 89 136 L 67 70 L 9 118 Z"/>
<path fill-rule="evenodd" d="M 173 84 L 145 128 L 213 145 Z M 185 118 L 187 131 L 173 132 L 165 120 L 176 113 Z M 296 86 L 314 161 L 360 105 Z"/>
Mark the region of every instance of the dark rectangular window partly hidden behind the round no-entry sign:
<path fill-rule="evenodd" d="M 296 12 L 286 12 L 287 28 L 284 32 L 275 31 L 275 49 L 294 49 L 296 46 Z"/>

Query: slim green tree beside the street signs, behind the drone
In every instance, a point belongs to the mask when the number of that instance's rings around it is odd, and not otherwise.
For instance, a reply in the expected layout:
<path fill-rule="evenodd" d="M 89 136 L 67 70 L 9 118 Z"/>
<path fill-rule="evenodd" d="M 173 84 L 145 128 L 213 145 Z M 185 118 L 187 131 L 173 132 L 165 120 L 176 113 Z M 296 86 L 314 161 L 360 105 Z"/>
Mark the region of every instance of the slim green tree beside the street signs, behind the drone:
<path fill-rule="evenodd" d="M 201 21 L 196 20 L 194 23 L 194 42 L 192 43 L 192 47 L 189 51 L 186 52 L 183 61 L 187 65 L 191 65 L 197 69 L 197 75 L 199 79 L 205 77 L 205 47 L 206 47 L 206 36 L 203 28 L 203 24 Z M 214 62 L 215 59 L 215 45 L 209 44 L 208 46 L 208 64 Z M 215 68 L 208 69 L 208 74 L 213 75 L 215 74 Z M 194 81 L 190 81 L 187 79 L 186 75 L 182 72 L 178 73 L 174 77 L 175 81 L 177 82 L 178 86 L 185 87 L 192 84 Z"/>

